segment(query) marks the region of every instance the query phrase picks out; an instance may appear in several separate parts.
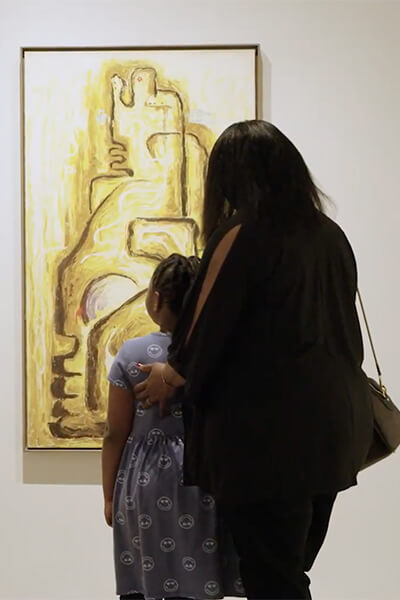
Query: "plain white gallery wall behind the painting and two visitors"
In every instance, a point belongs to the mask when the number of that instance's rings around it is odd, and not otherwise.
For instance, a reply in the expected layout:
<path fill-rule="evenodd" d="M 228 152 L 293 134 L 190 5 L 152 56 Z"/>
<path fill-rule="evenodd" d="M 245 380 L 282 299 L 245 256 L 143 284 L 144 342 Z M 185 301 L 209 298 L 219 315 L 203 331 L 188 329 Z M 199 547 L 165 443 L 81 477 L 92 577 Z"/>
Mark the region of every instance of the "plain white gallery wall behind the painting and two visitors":
<path fill-rule="evenodd" d="M 335 202 L 400 403 L 399 31 L 399 2 L 0 0 L 2 599 L 114 594 L 99 453 L 23 452 L 19 47 L 259 43 L 263 115 Z M 395 456 L 339 498 L 316 599 L 398 600 L 399 507 Z"/>

